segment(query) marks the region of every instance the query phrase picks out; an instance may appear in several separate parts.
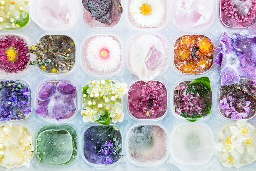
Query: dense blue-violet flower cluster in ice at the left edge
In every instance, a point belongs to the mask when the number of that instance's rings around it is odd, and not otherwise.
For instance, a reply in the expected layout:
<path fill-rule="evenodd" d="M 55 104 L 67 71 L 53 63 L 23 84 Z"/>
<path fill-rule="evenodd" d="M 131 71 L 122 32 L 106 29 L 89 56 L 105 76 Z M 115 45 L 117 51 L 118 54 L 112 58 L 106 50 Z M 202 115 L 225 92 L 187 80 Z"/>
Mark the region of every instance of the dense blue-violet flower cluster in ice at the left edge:
<path fill-rule="evenodd" d="M 28 86 L 18 81 L 0 82 L 0 121 L 25 119 L 31 112 Z"/>

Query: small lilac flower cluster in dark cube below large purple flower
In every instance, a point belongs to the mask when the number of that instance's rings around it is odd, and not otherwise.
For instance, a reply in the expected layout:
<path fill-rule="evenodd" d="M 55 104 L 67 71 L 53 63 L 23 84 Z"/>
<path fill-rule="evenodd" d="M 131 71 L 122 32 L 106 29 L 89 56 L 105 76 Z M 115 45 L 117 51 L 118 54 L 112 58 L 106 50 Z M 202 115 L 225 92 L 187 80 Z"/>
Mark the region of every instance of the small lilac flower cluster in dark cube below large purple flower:
<path fill-rule="evenodd" d="M 231 95 L 223 98 L 219 102 L 221 110 L 224 110 L 225 115 L 231 119 L 241 120 L 248 117 L 250 112 L 250 101 L 245 101 L 237 99 Z M 230 115 L 231 114 L 231 115 Z"/>

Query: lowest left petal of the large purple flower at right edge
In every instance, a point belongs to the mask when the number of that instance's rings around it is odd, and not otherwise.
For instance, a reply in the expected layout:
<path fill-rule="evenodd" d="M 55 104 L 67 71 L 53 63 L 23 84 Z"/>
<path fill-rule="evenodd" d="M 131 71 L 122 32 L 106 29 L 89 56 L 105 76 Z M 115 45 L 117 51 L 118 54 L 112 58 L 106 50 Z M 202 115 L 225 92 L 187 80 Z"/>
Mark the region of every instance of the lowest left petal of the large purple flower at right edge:
<path fill-rule="evenodd" d="M 239 74 L 233 67 L 226 67 L 221 73 L 221 85 L 230 85 L 234 83 L 238 83 L 240 80 Z"/>

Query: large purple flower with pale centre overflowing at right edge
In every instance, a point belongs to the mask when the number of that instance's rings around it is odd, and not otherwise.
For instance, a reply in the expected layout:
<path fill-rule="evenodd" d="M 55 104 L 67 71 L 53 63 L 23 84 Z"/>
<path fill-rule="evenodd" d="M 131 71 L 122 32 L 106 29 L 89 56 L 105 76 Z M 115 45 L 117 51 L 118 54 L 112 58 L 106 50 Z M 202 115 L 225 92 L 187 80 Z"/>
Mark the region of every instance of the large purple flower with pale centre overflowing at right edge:
<path fill-rule="evenodd" d="M 223 33 L 215 63 L 221 67 L 221 85 L 238 83 L 240 76 L 256 77 L 256 35 Z"/>

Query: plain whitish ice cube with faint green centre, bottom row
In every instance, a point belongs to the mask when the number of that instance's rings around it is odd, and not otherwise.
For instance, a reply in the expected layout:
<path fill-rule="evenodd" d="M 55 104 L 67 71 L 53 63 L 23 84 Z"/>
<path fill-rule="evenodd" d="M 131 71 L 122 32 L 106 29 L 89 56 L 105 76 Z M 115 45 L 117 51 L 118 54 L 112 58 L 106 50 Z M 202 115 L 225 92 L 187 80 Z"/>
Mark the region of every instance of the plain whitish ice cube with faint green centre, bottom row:
<path fill-rule="evenodd" d="M 213 157 L 213 133 L 205 124 L 176 127 L 171 137 L 173 159 L 184 165 L 203 165 Z"/>

